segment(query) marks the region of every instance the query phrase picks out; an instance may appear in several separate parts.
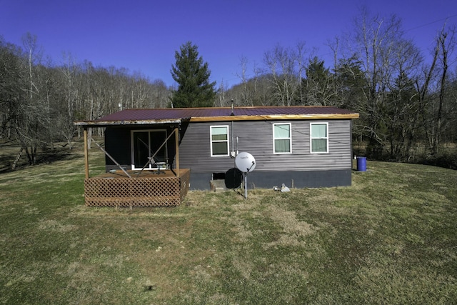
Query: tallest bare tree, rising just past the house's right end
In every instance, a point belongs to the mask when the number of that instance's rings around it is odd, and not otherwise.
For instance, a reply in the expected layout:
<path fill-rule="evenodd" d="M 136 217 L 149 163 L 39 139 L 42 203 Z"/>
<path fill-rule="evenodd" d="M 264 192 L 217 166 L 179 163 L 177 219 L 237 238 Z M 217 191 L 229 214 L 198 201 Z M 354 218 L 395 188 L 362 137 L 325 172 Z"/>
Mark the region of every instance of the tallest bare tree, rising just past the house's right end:
<path fill-rule="evenodd" d="M 398 41 L 401 41 L 401 21 L 396 16 L 384 19 L 362 11 L 355 20 L 353 36 L 349 37 L 347 59 L 358 58 L 366 79 L 363 100 L 358 109 L 363 114 L 363 131 L 368 137 L 368 156 L 380 158 L 386 148 L 386 129 L 383 128 L 383 109 L 388 84 L 395 74 L 392 61 Z M 397 74 L 398 75 L 398 74 Z"/>

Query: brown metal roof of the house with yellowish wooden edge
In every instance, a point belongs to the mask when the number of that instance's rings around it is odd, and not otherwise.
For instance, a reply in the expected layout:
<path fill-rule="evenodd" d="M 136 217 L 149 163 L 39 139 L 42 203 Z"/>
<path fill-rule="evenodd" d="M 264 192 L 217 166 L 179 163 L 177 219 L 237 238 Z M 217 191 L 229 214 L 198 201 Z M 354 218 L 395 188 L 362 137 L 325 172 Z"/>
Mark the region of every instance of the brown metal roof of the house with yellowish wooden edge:
<path fill-rule="evenodd" d="M 327 106 L 266 106 L 213 108 L 126 109 L 94 121 L 78 121 L 81 126 L 124 124 L 177 124 L 190 121 L 256 121 L 270 119 L 357 119 L 358 114 Z"/>

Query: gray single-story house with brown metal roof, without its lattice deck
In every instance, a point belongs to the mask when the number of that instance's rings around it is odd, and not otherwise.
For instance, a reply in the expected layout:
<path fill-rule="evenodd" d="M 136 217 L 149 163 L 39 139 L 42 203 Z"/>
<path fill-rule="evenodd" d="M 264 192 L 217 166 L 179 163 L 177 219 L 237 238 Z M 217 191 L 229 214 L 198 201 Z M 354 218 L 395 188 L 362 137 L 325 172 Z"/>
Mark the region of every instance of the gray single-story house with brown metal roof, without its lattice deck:
<path fill-rule="evenodd" d="M 357 118 L 328 106 L 261 106 L 126 109 L 75 124 L 106 128 L 107 173 L 189 169 L 190 189 L 210 189 L 210 181 L 239 179 L 235 157 L 246 151 L 256 160 L 252 187 L 303 188 L 351 185 Z"/>

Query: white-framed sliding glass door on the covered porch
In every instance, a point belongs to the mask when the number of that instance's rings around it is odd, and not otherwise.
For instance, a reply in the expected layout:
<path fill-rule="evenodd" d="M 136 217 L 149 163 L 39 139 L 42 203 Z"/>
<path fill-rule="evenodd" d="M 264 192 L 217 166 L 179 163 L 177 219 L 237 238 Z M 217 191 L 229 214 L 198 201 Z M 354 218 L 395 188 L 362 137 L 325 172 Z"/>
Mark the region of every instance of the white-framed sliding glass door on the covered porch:
<path fill-rule="evenodd" d="M 166 130 L 138 130 L 131 131 L 131 169 L 143 169 L 149 158 L 154 156 L 144 169 L 157 169 L 155 162 L 166 162 L 168 155 L 166 144 Z M 161 147 L 161 149 L 159 149 Z M 159 150 L 159 151 L 158 151 Z"/>

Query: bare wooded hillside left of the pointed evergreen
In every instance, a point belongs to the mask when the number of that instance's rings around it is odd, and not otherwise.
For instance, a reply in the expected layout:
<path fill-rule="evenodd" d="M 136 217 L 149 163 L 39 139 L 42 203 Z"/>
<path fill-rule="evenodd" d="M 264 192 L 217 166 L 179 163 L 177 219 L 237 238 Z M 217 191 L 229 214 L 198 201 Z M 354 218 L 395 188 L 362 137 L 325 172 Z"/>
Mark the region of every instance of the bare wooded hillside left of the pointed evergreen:
<path fill-rule="evenodd" d="M 121 108 L 162 108 L 170 90 L 160 79 L 150 81 L 124 68 L 78 63 L 64 54 L 56 66 L 44 59 L 36 36 L 25 34 L 23 46 L 0 36 L 0 137 L 14 139 L 29 164 L 36 151 L 71 139 L 77 120 L 98 119 Z"/>

